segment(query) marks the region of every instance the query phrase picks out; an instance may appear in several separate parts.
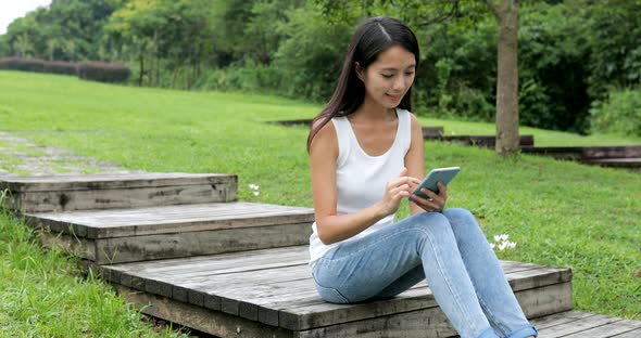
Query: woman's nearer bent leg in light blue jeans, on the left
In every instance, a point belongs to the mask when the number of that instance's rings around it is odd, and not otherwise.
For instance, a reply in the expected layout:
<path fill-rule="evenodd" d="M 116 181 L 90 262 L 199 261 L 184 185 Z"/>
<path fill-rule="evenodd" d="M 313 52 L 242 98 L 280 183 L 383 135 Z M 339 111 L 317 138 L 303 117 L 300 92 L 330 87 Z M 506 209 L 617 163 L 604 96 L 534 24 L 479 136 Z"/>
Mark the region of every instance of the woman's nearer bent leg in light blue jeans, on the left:
<path fill-rule="evenodd" d="M 314 278 L 325 300 L 359 302 L 376 297 L 419 265 L 437 302 L 463 338 L 495 337 L 452 227 L 438 212 L 418 213 L 341 244 L 316 261 Z"/>

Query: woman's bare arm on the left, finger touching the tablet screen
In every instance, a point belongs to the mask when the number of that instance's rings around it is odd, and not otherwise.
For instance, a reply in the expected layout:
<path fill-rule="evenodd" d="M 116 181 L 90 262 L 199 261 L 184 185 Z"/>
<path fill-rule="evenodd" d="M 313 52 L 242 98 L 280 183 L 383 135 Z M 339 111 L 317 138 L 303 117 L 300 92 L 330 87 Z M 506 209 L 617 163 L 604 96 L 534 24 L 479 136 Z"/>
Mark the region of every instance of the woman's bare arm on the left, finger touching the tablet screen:
<path fill-rule="evenodd" d="M 401 199 L 410 196 L 410 178 L 403 170 L 388 182 L 384 199 L 359 212 L 337 214 L 336 160 L 338 136 L 329 121 L 310 146 L 310 172 L 318 237 L 325 245 L 350 238 L 397 211 Z"/>

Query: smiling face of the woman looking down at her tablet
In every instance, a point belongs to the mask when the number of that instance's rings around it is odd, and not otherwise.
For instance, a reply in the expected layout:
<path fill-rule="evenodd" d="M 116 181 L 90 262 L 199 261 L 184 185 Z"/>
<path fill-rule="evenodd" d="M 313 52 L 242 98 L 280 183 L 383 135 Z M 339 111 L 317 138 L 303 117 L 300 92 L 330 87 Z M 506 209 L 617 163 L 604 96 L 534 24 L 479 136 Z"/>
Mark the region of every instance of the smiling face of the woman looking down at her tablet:
<path fill-rule="evenodd" d="M 365 72 L 356 67 L 365 84 L 365 101 L 395 108 L 414 82 L 416 57 L 400 46 L 378 54 Z"/>

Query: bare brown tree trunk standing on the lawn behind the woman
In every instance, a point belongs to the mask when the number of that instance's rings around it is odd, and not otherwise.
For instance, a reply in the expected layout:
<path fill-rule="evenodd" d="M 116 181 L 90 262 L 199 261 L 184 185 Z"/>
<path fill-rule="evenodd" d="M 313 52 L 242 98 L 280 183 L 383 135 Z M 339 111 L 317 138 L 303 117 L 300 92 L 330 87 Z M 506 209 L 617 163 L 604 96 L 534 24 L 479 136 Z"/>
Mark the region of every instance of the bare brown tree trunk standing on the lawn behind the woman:
<path fill-rule="evenodd" d="M 499 26 L 497 80 L 497 153 L 503 156 L 519 151 L 518 136 L 518 0 L 486 0 Z"/>

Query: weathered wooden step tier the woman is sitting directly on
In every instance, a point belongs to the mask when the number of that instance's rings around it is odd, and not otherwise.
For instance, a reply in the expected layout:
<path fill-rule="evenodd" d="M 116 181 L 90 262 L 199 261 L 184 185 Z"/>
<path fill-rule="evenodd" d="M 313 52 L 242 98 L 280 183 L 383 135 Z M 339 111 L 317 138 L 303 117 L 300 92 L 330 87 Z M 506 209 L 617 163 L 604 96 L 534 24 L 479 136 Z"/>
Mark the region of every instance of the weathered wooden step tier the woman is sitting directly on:
<path fill-rule="evenodd" d="M 87 266 L 142 312 L 219 337 L 452 337 L 425 282 L 399 297 L 330 304 L 307 246 Z M 571 309 L 571 271 L 502 262 L 528 317 Z"/>

